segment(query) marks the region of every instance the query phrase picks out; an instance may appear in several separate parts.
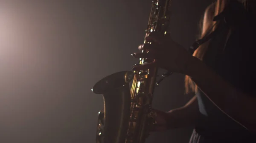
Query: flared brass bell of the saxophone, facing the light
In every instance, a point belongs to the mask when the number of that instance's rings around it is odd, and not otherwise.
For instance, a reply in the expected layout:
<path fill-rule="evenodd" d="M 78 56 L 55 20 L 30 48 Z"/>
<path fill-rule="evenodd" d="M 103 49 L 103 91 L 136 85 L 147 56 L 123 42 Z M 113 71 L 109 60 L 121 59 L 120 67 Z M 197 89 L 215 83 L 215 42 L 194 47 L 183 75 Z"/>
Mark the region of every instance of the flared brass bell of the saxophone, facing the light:
<path fill-rule="evenodd" d="M 133 77 L 133 72 L 121 71 L 93 86 L 93 93 L 102 94 L 104 100 L 104 109 L 98 115 L 97 143 L 125 143 L 131 108 L 129 82 Z"/>

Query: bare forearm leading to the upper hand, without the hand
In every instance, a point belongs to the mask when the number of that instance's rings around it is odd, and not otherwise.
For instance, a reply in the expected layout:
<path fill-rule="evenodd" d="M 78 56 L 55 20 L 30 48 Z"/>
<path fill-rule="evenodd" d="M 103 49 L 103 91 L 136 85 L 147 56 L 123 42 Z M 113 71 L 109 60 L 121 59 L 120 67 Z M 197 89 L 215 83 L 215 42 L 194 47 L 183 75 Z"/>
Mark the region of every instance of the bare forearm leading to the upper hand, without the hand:
<path fill-rule="evenodd" d="M 201 60 L 192 57 L 188 76 L 222 111 L 248 129 L 256 129 L 256 98 L 237 90 Z"/>

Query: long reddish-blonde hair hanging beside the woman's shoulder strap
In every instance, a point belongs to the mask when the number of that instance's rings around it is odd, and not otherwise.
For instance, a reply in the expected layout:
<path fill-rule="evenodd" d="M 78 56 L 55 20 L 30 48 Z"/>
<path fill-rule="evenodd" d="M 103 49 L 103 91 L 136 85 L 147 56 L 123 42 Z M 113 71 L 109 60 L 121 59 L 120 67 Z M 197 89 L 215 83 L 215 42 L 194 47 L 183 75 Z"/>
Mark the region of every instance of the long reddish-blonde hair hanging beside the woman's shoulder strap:
<path fill-rule="evenodd" d="M 199 39 L 204 37 L 207 34 L 207 31 L 209 31 L 210 28 L 215 24 L 215 22 L 212 21 L 213 17 L 220 14 L 221 11 L 227 6 L 227 3 L 229 0 L 217 0 L 215 3 L 212 3 L 210 6 L 208 6 L 205 10 L 205 14 L 203 19 L 200 22 L 200 34 Z M 214 28 L 212 28 L 212 31 L 216 29 L 218 26 L 218 23 L 215 24 Z M 193 53 L 193 56 L 197 57 L 200 60 L 203 60 L 204 54 L 207 51 L 207 47 L 209 45 L 209 42 L 204 43 L 203 45 L 199 46 L 197 50 Z M 192 81 L 192 79 L 189 78 L 189 76 L 185 76 L 185 92 L 196 92 L 197 85 L 195 85 Z"/>

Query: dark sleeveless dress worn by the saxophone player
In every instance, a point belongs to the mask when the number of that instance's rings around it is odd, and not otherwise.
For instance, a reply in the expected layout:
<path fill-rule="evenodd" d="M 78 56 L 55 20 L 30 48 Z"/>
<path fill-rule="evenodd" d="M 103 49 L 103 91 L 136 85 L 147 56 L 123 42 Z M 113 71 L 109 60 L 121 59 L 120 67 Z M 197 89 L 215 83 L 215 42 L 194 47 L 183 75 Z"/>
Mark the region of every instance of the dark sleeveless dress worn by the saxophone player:
<path fill-rule="evenodd" d="M 219 18 L 220 30 L 210 39 L 204 62 L 239 90 L 256 95 L 256 22 L 248 14 L 239 17 L 235 8 L 225 19 Z M 226 41 L 230 26 L 235 30 Z M 256 135 L 221 112 L 204 93 L 198 90 L 196 95 L 200 117 L 189 143 L 256 143 Z"/>

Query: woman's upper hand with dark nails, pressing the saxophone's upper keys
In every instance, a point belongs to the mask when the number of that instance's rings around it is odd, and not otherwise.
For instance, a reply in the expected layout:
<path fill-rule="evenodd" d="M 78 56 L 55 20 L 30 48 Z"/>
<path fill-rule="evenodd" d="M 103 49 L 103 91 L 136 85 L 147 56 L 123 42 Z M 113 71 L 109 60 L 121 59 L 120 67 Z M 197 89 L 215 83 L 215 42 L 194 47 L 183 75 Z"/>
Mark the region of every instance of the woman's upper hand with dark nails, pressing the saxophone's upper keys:
<path fill-rule="evenodd" d="M 187 66 L 193 56 L 181 45 L 174 42 L 168 34 L 163 35 L 156 32 L 145 37 L 145 44 L 139 46 L 143 53 L 133 53 L 135 58 L 152 59 L 152 62 L 145 62 L 143 65 L 136 65 L 133 70 L 147 70 L 150 67 L 160 67 L 170 72 L 186 74 Z M 148 52 L 145 52 L 148 51 Z"/>

